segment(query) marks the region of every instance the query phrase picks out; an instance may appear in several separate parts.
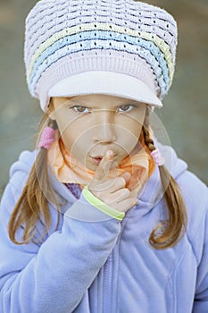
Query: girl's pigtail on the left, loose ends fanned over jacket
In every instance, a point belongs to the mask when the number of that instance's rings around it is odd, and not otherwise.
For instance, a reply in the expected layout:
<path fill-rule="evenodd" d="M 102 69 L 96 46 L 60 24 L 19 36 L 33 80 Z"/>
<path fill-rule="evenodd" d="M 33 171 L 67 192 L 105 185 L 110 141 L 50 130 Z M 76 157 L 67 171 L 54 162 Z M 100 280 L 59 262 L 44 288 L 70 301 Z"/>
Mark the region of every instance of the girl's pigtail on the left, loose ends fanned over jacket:
<path fill-rule="evenodd" d="M 56 123 L 48 118 L 48 115 L 43 116 L 42 121 L 38 126 L 38 132 L 43 130 L 44 125 L 52 128 L 57 128 Z M 48 201 L 54 203 L 58 208 L 54 197 L 54 191 L 50 186 L 47 173 L 47 150 L 40 148 L 34 164 L 29 173 L 28 181 L 21 192 L 21 197 L 16 203 L 10 222 L 8 225 L 9 237 L 16 244 L 24 244 L 32 241 L 35 236 L 35 225 L 38 220 L 43 220 L 45 225 L 45 233 L 39 239 L 43 238 L 51 224 L 51 216 L 48 207 Z M 57 209 L 57 225 L 59 224 L 59 211 Z M 23 236 L 20 240 L 16 240 L 17 231 L 23 226 Z"/>

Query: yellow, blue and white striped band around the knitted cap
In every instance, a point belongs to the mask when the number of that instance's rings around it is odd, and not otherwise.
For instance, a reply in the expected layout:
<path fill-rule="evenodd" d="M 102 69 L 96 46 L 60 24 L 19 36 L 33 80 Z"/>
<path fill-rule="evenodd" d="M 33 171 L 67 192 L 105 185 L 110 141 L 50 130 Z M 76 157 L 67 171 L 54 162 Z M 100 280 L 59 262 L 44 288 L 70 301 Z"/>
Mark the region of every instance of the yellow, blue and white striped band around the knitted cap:
<path fill-rule="evenodd" d="M 109 31 L 110 26 L 111 30 Z M 91 23 L 77 25 L 55 33 L 37 48 L 29 64 L 30 92 L 34 93 L 41 73 L 45 72 L 52 63 L 57 62 L 62 56 L 92 48 L 126 51 L 144 58 L 153 68 L 162 94 L 169 89 L 174 66 L 170 47 L 162 38 L 112 24 L 96 23 L 95 28 L 95 23 Z"/>

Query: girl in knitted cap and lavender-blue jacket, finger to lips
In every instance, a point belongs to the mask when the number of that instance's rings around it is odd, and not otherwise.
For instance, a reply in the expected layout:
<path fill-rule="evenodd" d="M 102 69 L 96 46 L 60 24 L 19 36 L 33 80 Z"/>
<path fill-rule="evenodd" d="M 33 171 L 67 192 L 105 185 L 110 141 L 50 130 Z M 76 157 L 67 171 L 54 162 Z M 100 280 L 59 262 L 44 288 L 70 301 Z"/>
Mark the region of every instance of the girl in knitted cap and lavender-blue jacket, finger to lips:
<path fill-rule="evenodd" d="M 0 311 L 208 311 L 207 189 L 154 138 L 177 25 L 133 0 L 41 0 L 26 20 L 45 112 L 0 209 Z"/>

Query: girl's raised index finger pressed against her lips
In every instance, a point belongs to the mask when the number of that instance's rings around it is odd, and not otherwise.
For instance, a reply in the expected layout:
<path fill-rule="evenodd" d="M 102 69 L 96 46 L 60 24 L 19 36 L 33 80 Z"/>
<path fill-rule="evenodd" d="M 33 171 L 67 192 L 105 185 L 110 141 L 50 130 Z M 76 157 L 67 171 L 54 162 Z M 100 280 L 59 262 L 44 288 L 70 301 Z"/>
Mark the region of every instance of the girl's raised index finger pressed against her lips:
<path fill-rule="evenodd" d="M 104 179 L 106 179 L 107 174 L 112 165 L 113 157 L 114 157 L 114 154 L 112 150 L 105 151 L 104 157 L 102 158 L 102 160 L 100 161 L 99 165 L 96 168 L 96 172 L 94 175 L 95 180 L 103 181 Z"/>

